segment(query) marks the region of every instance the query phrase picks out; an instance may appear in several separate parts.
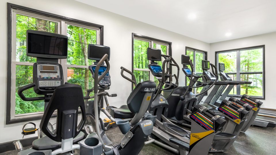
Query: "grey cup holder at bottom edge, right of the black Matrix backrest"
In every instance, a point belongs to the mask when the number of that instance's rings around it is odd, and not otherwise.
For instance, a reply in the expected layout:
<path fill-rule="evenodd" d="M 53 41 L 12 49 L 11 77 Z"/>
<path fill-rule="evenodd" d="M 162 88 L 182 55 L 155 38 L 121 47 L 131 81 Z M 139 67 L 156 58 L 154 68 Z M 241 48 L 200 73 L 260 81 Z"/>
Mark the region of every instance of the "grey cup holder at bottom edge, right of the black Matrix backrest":
<path fill-rule="evenodd" d="M 102 143 L 99 141 L 97 133 L 87 135 L 78 144 L 80 145 L 80 155 L 98 155 L 103 153 Z"/>

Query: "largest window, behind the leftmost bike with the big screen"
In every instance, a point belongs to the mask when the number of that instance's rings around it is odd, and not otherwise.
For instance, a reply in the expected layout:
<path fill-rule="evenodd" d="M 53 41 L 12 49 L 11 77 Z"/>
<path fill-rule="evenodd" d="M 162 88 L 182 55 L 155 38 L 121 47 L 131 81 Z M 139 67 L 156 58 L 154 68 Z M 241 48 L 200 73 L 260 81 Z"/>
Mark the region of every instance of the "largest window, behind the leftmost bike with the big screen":
<path fill-rule="evenodd" d="M 47 17 L 20 9 L 11 9 L 11 51 L 8 51 L 8 87 L 7 87 L 7 121 L 6 123 L 27 121 L 29 118 L 39 118 L 44 111 L 44 101 L 23 101 L 17 94 L 18 89 L 26 84 L 32 83 L 32 66 L 37 61 L 36 58 L 26 55 L 26 31 L 38 30 L 52 32 L 68 36 L 68 58 L 59 60 L 64 71 L 64 82 L 81 85 L 83 93 L 93 87 L 93 78 L 88 66 L 93 61 L 87 58 L 88 44 L 102 44 L 100 42 L 99 25 L 90 26 L 87 22 L 81 24 L 77 20 L 63 20 L 57 16 Z M 30 9 L 30 8 L 28 8 Z M 23 11 L 24 10 L 24 11 Z M 32 9 L 30 9 L 32 10 Z M 44 13 L 44 12 L 43 12 Z M 68 18 L 69 19 L 69 18 Z M 76 22 L 74 22 L 76 21 Z M 9 19 L 8 19 L 9 23 Z M 95 26 L 95 27 L 94 27 Z M 9 45 L 9 43 L 8 43 Z M 11 53 L 11 54 L 9 54 Z M 9 57 L 10 56 L 10 57 Z M 10 74 L 9 74 L 10 71 Z M 11 84 L 9 87 L 9 83 Z M 24 91 L 26 97 L 39 96 L 33 89 Z M 10 113 L 8 113 L 10 112 Z"/>

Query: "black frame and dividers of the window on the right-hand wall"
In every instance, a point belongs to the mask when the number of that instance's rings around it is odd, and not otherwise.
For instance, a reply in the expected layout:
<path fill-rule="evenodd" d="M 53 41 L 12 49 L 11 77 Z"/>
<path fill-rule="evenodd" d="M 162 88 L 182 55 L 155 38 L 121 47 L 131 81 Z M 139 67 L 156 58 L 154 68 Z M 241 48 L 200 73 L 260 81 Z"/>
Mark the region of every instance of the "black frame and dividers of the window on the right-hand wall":
<path fill-rule="evenodd" d="M 247 49 L 254 49 L 254 48 L 262 48 L 263 49 L 263 51 L 262 51 L 262 60 L 263 60 L 263 62 L 262 62 L 262 85 L 263 85 L 263 88 L 262 88 L 262 91 L 263 91 L 263 96 L 262 97 L 260 97 L 260 96 L 254 96 L 254 98 L 256 98 L 256 99 L 261 99 L 261 100 L 265 100 L 265 45 L 259 45 L 259 46 L 252 46 L 252 47 L 243 47 L 243 48 L 238 48 L 238 49 L 230 49 L 230 50 L 223 50 L 223 51 L 216 51 L 215 52 L 215 64 L 216 64 L 216 66 L 218 65 L 217 63 L 218 63 L 218 54 L 219 53 L 227 53 L 227 52 L 233 52 L 233 51 L 241 51 L 241 50 L 247 50 Z M 238 54 L 237 55 L 237 59 L 240 59 L 240 54 Z M 240 64 L 238 64 L 237 63 L 237 72 L 236 73 L 234 73 L 234 74 L 236 74 L 236 76 L 237 76 L 237 74 L 239 73 L 239 74 L 246 74 L 246 73 L 250 73 L 250 74 L 254 74 L 254 73 L 257 73 L 257 74 L 260 74 L 260 72 L 240 72 L 240 71 L 238 71 L 238 70 L 240 70 Z M 237 95 L 227 95 L 227 96 L 232 96 L 232 97 L 237 97 L 237 98 L 240 98 L 242 95 L 238 95 L 238 92 L 240 93 L 240 90 L 238 90 L 238 88 L 237 88 Z"/>

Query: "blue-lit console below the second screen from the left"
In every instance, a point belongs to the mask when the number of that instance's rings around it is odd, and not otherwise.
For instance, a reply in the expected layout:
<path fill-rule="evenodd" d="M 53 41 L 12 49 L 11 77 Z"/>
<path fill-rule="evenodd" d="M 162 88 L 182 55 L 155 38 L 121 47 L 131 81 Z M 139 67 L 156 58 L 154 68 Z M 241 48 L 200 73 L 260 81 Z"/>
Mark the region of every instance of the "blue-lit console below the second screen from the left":
<path fill-rule="evenodd" d="M 89 69 L 90 69 L 90 71 L 93 75 L 93 78 L 94 78 L 96 65 L 89 66 Z M 101 65 L 100 68 L 99 68 L 98 76 L 101 76 L 104 73 L 104 71 L 106 71 L 106 66 Z M 106 73 L 104 78 L 102 78 L 101 81 L 99 82 L 99 86 L 104 87 L 104 88 L 108 88 L 110 85 L 111 85 L 111 79 L 110 79 L 110 75 L 109 75 L 109 72 L 108 72 L 108 73 Z"/>

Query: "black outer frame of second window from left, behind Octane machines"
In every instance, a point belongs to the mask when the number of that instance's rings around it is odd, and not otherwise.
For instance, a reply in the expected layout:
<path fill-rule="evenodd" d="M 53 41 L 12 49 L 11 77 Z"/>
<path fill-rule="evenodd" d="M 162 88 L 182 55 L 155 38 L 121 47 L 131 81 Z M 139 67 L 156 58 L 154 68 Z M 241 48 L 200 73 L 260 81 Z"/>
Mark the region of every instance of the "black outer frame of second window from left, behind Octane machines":
<path fill-rule="evenodd" d="M 169 41 L 164 41 L 164 40 L 160 40 L 160 39 L 156 39 L 156 38 L 152 38 L 152 37 L 148 37 L 148 36 L 144 36 L 144 35 L 141 35 L 141 34 L 136 34 L 136 33 L 132 33 L 132 54 L 131 54 L 131 59 L 132 59 L 132 73 L 133 73 L 133 67 L 134 67 L 134 64 L 133 64 L 133 53 L 134 53 L 134 39 L 136 38 L 141 38 L 141 39 L 146 39 L 146 40 L 152 40 L 152 41 L 156 41 L 156 42 L 162 42 L 162 43 L 166 43 L 168 44 L 169 48 L 169 56 L 172 56 L 172 42 L 169 42 Z M 169 70 L 169 73 L 172 73 L 172 69 L 170 68 Z M 133 90 L 133 84 L 131 84 L 131 90 Z"/>

